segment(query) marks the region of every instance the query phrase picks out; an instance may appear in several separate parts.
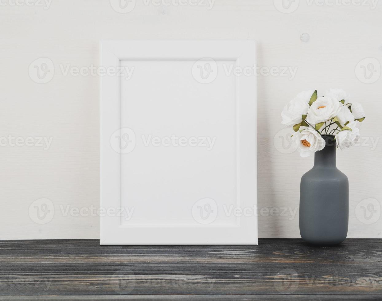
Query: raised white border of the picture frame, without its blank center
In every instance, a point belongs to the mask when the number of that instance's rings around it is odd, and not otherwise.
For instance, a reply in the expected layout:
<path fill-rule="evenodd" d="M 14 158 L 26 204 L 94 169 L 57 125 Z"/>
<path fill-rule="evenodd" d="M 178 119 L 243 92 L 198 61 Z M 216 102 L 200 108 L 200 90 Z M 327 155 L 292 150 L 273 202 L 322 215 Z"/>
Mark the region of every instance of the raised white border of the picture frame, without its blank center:
<path fill-rule="evenodd" d="M 232 41 L 101 41 L 100 66 L 121 60 L 235 60 L 256 67 L 256 42 Z M 236 76 L 238 206 L 257 207 L 256 74 Z M 100 207 L 120 207 L 120 155 L 110 136 L 120 129 L 120 77 L 100 76 Z M 257 244 L 257 214 L 240 218 L 235 227 L 126 227 L 116 216 L 100 217 L 101 245 Z M 131 229 L 134 228 L 134 231 Z M 249 234 L 251 233 L 251 234 Z M 128 237 L 128 238 L 127 238 Z"/>

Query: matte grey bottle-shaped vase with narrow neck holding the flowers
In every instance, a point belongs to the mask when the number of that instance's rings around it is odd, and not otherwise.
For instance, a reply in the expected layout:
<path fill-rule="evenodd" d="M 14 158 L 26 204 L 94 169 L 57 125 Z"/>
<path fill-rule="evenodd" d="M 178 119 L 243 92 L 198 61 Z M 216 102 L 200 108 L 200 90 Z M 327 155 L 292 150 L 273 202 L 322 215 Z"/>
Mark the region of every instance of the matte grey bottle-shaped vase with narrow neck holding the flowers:
<path fill-rule="evenodd" d="M 300 235 L 311 244 L 339 244 L 348 234 L 349 181 L 336 167 L 334 136 L 322 136 L 325 147 L 314 154 L 314 166 L 301 178 Z"/>

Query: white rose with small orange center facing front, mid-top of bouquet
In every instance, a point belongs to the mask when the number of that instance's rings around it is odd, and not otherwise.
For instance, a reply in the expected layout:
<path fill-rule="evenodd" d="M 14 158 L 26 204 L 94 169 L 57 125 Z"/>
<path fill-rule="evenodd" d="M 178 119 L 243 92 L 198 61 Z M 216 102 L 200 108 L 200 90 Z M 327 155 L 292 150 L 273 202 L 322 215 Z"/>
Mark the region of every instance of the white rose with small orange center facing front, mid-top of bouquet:
<path fill-rule="evenodd" d="M 341 106 L 342 104 L 334 97 L 325 95 L 317 98 L 309 108 L 306 120 L 314 124 L 328 121 L 337 116 L 341 110 Z"/>

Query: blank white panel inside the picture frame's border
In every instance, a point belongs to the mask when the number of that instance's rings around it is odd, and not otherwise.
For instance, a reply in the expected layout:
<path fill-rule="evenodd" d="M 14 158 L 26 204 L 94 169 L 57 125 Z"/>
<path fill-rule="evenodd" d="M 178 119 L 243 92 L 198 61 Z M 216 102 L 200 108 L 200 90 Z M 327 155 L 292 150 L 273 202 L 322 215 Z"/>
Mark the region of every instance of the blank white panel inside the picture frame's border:
<path fill-rule="evenodd" d="M 121 154 L 121 207 L 134 208 L 122 224 L 199 226 L 191 214 L 198 200 L 237 206 L 236 80 L 223 72 L 235 61 L 217 61 L 208 84 L 193 78 L 194 62 L 121 61 L 133 70 L 121 78 L 121 128 L 136 139 Z M 220 210 L 210 227 L 235 223 Z"/>

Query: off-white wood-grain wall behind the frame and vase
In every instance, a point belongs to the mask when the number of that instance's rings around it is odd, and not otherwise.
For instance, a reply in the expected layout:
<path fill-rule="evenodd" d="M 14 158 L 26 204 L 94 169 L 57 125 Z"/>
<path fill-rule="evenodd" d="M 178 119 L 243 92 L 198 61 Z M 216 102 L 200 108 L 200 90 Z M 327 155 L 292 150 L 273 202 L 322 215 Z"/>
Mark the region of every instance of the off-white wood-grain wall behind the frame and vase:
<path fill-rule="evenodd" d="M 152 2 L 146 6 L 137 0 L 126 14 L 114 11 L 106 0 L 53 0 L 47 9 L 12 3 L 2 0 L 0 9 L 0 136 L 32 137 L 31 144 L 37 137 L 53 140 L 47 150 L 8 142 L 0 147 L 1 239 L 99 237 L 97 216 L 65 216 L 60 209 L 98 206 L 99 79 L 64 76 L 60 65 L 97 66 L 99 40 L 108 39 L 255 39 L 259 66 L 297 70 L 293 79 L 258 76 L 258 199 L 265 208 L 259 216 L 259 237 L 299 237 L 298 212 L 294 218 L 282 213 L 284 208 L 297 210 L 301 175 L 313 163 L 313 157 L 288 154 L 287 145 L 282 146 L 283 105 L 310 88 L 348 91 L 364 105 L 362 134 L 368 139 L 366 146 L 337 153 L 337 166 L 350 181 L 348 237 L 382 237 L 377 206 L 382 202 L 382 142 L 376 148 L 371 143 L 380 138 L 382 78 L 375 73 L 377 79 L 367 84 L 362 74 L 361 80 L 355 74 L 364 58 L 382 62 L 382 3 L 371 9 L 300 0 L 295 11 L 282 13 L 269 0 L 216 0 L 210 10 Z M 301 41 L 303 33 L 309 34 L 309 41 Z M 40 57 L 54 64 L 49 83 L 29 77 L 29 65 Z M 380 71 L 380 65 L 374 63 L 373 69 Z M 44 224 L 28 214 L 32 202 L 41 198 L 50 199 L 55 210 Z M 368 198 L 377 201 L 363 201 Z M 361 206 L 368 208 L 366 215 Z M 273 207 L 275 216 L 267 216 Z"/>

